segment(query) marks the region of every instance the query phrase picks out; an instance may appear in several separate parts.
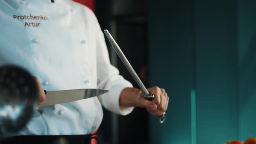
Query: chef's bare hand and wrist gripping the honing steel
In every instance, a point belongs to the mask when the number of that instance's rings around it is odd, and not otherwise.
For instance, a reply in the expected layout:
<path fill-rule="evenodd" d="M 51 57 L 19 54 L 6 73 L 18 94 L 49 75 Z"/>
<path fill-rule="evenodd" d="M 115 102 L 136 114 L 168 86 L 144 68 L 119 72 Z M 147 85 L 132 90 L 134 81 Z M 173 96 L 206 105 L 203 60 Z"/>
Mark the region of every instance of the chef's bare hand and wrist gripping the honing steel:
<path fill-rule="evenodd" d="M 149 113 L 154 116 L 161 116 L 167 110 L 169 97 L 163 88 L 152 87 L 148 91 L 154 95 L 152 101 L 147 100 L 141 94 L 141 90 L 137 88 L 125 88 L 120 95 L 119 106 L 120 108 L 127 108 L 137 106 L 146 108 Z"/>

